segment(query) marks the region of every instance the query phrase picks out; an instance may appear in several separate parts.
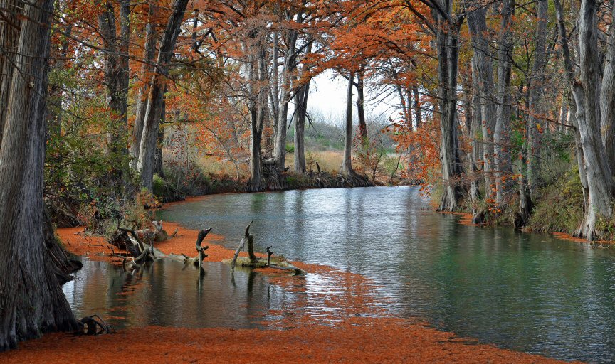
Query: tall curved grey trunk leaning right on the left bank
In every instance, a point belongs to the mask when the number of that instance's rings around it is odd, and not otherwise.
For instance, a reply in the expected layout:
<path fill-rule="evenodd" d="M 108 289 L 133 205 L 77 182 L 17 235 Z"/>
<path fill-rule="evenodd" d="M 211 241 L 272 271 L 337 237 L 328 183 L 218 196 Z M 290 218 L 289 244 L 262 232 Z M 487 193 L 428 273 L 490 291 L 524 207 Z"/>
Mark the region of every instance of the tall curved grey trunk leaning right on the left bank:
<path fill-rule="evenodd" d="M 167 28 L 160 42 L 156 70 L 149 84 L 149 96 L 147 97 L 147 111 L 143 125 L 141 146 L 137 169 L 141 172 L 141 186 L 152 191 L 152 178 L 154 176 L 154 155 L 156 153 L 156 141 L 158 129 L 162 117 L 162 100 L 164 97 L 165 78 L 169 73 L 169 62 L 173 56 L 173 50 L 179 35 L 180 27 L 184 19 L 184 12 L 188 0 L 174 0 L 172 14 L 169 16 Z"/>

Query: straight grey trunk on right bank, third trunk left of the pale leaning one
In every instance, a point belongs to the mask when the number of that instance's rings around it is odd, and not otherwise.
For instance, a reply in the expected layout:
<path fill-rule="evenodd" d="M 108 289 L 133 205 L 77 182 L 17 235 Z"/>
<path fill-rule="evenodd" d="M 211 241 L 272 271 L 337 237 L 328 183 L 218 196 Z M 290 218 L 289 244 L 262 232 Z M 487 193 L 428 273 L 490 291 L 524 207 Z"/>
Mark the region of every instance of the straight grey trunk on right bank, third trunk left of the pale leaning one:
<path fill-rule="evenodd" d="M 493 133 L 493 167 L 495 168 L 495 204 L 503 207 L 504 195 L 513 187 L 510 164 L 510 59 L 513 57 L 512 26 L 515 0 L 504 0 L 498 49 L 498 102 L 495 107 Z"/>

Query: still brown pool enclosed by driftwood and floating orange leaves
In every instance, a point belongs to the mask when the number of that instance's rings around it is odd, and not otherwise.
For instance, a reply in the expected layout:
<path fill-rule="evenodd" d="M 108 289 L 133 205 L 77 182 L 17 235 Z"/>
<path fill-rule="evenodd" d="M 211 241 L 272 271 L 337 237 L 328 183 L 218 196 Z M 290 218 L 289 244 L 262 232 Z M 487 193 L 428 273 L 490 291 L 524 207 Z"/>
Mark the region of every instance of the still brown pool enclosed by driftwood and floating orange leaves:
<path fill-rule="evenodd" d="M 125 272 L 121 266 L 85 260 L 64 293 L 78 317 L 99 314 L 114 328 L 127 326 L 260 327 L 270 309 L 295 301 L 292 292 L 263 275 L 217 262 L 205 274 L 181 262 L 159 259 Z"/>

